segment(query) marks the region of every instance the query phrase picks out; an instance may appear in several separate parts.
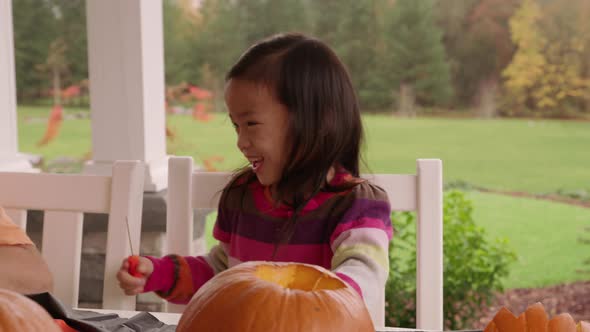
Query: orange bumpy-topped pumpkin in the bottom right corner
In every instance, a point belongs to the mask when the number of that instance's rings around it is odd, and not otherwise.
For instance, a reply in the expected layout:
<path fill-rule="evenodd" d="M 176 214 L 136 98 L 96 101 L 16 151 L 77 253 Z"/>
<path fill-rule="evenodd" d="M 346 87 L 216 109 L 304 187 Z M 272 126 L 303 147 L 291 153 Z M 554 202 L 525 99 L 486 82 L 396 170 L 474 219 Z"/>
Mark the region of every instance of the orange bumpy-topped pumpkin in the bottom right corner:
<path fill-rule="evenodd" d="M 590 323 L 574 322 L 567 313 L 549 319 L 545 307 L 535 303 L 516 317 L 506 308 L 500 309 L 488 323 L 484 332 L 590 332 Z"/>

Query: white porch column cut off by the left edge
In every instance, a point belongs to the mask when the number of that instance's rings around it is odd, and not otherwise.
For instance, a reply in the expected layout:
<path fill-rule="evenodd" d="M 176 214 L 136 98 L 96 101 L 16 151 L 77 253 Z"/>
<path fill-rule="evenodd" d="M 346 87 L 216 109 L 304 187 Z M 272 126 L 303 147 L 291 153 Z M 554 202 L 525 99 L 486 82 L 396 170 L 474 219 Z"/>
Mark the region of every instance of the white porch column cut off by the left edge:
<path fill-rule="evenodd" d="M 37 171 L 18 152 L 12 1 L 0 0 L 0 171 Z"/>

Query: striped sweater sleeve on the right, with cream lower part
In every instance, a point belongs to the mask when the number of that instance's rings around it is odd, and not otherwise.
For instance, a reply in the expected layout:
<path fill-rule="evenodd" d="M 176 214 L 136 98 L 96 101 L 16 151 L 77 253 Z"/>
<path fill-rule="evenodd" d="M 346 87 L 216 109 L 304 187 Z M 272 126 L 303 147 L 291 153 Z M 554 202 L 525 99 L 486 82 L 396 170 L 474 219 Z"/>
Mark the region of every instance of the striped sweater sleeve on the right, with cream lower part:
<path fill-rule="evenodd" d="M 332 271 L 363 297 L 374 322 L 384 319 L 389 241 L 393 235 L 390 214 L 385 192 L 363 184 L 330 237 Z"/>

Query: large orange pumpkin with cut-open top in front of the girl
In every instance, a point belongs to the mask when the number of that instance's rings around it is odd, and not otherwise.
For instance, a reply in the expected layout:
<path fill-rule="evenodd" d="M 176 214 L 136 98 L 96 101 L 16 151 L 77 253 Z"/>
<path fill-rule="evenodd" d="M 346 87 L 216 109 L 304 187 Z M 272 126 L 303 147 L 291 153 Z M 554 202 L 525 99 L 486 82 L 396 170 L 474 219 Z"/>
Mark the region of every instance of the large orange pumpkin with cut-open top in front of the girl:
<path fill-rule="evenodd" d="M 334 273 L 296 263 L 247 262 L 203 285 L 178 332 L 373 332 L 362 298 Z"/>

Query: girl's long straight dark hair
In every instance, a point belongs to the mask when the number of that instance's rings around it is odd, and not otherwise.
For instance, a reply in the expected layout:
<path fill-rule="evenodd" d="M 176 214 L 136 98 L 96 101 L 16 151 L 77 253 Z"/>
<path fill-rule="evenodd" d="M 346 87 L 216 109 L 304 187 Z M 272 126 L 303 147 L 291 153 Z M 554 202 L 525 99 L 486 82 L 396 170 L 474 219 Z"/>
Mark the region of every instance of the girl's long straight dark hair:
<path fill-rule="evenodd" d="M 332 166 L 359 176 L 363 129 L 348 72 L 323 42 L 289 33 L 250 47 L 228 72 L 226 81 L 230 79 L 265 86 L 289 112 L 292 158 L 275 189 L 278 202 L 295 210 L 293 231 L 296 215 L 310 198 L 320 190 L 335 190 L 326 183 Z M 247 170 L 236 178 L 244 175 L 254 178 Z"/>

